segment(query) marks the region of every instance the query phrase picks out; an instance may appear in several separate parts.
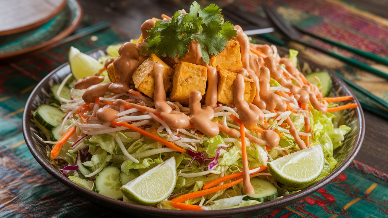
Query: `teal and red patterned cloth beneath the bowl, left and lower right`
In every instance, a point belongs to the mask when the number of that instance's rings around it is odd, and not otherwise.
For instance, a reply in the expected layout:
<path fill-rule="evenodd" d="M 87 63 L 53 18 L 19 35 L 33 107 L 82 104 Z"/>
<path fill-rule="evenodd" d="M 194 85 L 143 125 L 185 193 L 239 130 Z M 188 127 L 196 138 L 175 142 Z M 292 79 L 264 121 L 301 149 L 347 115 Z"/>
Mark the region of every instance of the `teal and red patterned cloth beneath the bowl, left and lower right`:
<path fill-rule="evenodd" d="M 32 89 L 67 61 L 72 45 L 82 52 L 128 40 L 115 29 L 88 35 L 38 56 L 0 65 L 0 217 L 128 217 L 103 208 L 52 178 L 32 157 L 21 131 L 23 108 Z M 93 37 L 95 39 L 95 37 Z M 388 175 L 353 162 L 329 185 L 296 202 L 255 218 L 388 216 Z"/>

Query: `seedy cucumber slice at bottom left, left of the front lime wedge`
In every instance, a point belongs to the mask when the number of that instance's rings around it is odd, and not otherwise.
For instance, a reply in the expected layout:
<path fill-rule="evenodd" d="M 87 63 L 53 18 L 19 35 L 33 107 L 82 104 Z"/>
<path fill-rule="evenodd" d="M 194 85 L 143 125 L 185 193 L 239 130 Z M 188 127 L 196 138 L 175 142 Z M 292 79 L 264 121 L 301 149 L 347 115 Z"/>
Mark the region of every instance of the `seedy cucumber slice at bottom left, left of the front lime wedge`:
<path fill-rule="evenodd" d="M 115 166 L 102 169 L 94 181 L 94 187 L 97 193 L 114 199 L 122 199 L 123 193 L 120 191 L 121 183 L 119 174 L 120 169 Z"/>

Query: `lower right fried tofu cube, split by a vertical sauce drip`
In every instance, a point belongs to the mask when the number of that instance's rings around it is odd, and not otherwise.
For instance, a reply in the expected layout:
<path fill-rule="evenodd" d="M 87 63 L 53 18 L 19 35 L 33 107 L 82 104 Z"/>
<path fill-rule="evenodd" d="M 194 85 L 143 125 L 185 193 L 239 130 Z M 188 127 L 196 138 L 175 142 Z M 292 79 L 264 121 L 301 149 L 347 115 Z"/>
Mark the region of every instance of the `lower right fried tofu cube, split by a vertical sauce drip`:
<path fill-rule="evenodd" d="M 234 106 L 234 80 L 237 73 L 217 68 L 218 72 L 218 87 L 217 87 L 217 101 L 225 105 Z M 256 95 L 256 85 L 252 79 L 244 77 L 245 91 L 244 100 L 247 103 L 252 103 Z"/>

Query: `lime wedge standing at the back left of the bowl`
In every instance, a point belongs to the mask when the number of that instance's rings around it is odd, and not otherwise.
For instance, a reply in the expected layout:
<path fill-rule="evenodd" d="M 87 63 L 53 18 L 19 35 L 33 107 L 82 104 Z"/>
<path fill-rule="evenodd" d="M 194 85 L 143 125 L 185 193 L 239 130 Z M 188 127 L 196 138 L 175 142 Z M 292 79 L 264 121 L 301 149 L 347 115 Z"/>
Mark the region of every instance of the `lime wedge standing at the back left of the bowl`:
<path fill-rule="evenodd" d="M 80 50 L 70 47 L 69 63 L 73 76 L 78 80 L 88 76 L 93 76 L 104 66 L 96 59 L 80 52 Z"/>

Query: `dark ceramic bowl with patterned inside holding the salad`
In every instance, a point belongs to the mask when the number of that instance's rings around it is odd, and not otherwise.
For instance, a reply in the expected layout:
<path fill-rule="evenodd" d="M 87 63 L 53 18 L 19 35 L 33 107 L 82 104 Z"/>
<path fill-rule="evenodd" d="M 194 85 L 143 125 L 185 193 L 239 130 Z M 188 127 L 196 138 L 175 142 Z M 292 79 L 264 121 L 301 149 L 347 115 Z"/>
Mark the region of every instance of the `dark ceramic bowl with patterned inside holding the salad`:
<path fill-rule="evenodd" d="M 104 48 L 103 50 L 105 51 Z M 279 52 L 283 54 L 288 53 L 288 51 L 284 49 L 279 49 Z M 90 53 L 90 55 L 94 58 L 98 58 L 102 54 L 104 54 L 104 52 L 102 51 L 92 51 Z M 303 58 L 298 59 L 300 64 L 307 62 L 312 68 L 313 72 L 315 70 L 325 70 L 325 68 L 318 66 Z M 350 110 L 344 110 L 344 123 L 347 126 L 350 126 L 352 130 L 348 134 L 346 134 L 343 146 L 334 151 L 334 158 L 338 161 L 338 164 L 333 170 L 333 172 L 331 172 L 324 179 L 320 180 L 319 182 L 308 188 L 301 190 L 300 192 L 274 201 L 256 204 L 252 206 L 246 206 L 242 208 L 224 209 L 217 211 L 177 211 L 130 204 L 123 201 L 111 199 L 109 197 L 105 197 L 104 195 L 97 194 L 70 181 L 64 174 L 61 173 L 61 171 L 59 171 L 59 169 L 55 168 L 51 164 L 50 159 L 49 157 L 47 157 L 46 154 L 46 144 L 38 140 L 38 138 L 36 138 L 36 136 L 33 134 L 36 133 L 41 136 L 43 135 L 38 129 L 38 127 L 36 127 L 34 123 L 31 122 L 31 119 L 33 119 L 31 112 L 34 111 L 37 106 L 49 103 L 49 97 L 47 96 L 47 93 L 50 93 L 50 86 L 52 86 L 53 84 L 60 83 L 69 73 L 70 66 L 68 65 L 68 63 L 59 66 L 53 72 L 49 73 L 49 75 L 47 75 L 35 87 L 34 91 L 29 97 L 23 115 L 23 133 L 27 146 L 35 157 L 36 161 L 38 161 L 39 164 L 42 165 L 42 167 L 47 172 L 49 172 L 55 179 L 57 179 L 67 187 L 71 188 L 75 192 L 78 192 L 80 195 L 87 197 L 91 201 L 96 202 L 97 204 L 109 207 L 111 209 L 115 209 L 117 211 L 125 212 L 130 215 L 152 215 L 159 217 L 247 217 L 258 215 L 260 213 L 265 213 L 267 211 L 271 211 L 277 208 L 282 208 L 319 190 L 331 180 L 336 178 L 340 173 L 342 173 L 356 156 L 357 152 L 360 149 L 362 140 L 364 139 L 365 124 L 364 115 L 362 113 L 361 108 L 358 107 Z M 330 93 L 331 96 L 354 96 L 354 94 L 349 90 L 345 83 L 340 80 L 340 78 L 336 77 L 333 73 L 331 73 L 331 77 L 333 78 L 333 89 Z M 360 105 L 359 101 L 356 98 L 353 99 L 353 103 L 357 103 L 358 105 Z"/>

